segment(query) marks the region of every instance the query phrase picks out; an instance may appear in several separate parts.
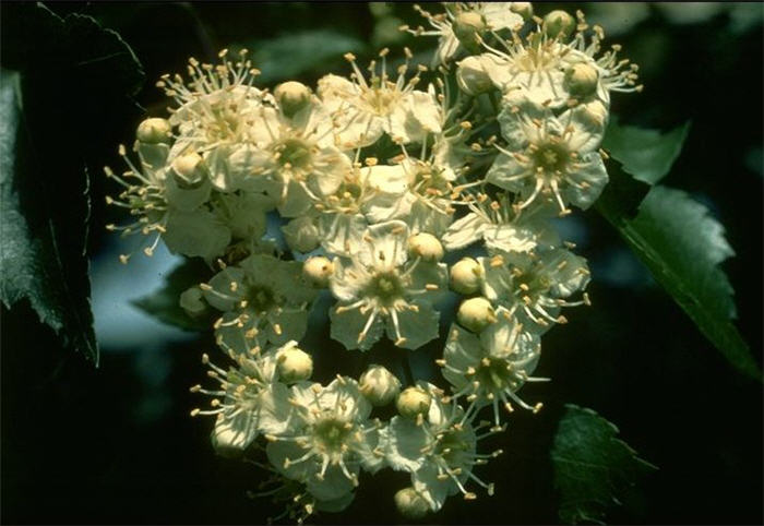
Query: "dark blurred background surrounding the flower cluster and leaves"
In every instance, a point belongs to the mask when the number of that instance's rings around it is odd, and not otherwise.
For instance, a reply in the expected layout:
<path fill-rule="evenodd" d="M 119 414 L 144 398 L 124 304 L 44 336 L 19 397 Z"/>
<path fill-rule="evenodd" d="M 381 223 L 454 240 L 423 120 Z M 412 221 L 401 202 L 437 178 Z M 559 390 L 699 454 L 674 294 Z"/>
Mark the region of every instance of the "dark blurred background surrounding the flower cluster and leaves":
<path fill-rule="evenodd" d="M 429 63 L 434 39 L 398 32 L 423 24 L 408 3 L 106 3 L 51 2 L 60 15 L 85 13 L 117 31 L 144 67 L 139 101 L 164 116 L 167 99 L 154 87 L 166 72 L 184 71 L 190 56 L 213 60 L 223 48 L 246 47 L 262 70 L 260 84 L 287 79 L 314 85 L 325 73 L 347 74 L 342 55 L 363 63 L 382 47 L 409 46 Z M 545 13 L 561 4 L 535 4 Z M 431 11 L 437 7 L 431 5 Z M 640 64 L 642 94 L 613 97 L 621 122 L 664 131 L 692 121 L 667 186 L 706 204 L 726 227 L 737 255 L 724 264 L 736 290 L 738 326 L 761 364 L 762 351 L 762 21 L 761 3 L 566 3 L 600 23 L 608 43 L 623 45 Z M 8 11 L 5 10 L 5 13 Z M 12 23 L 5 20 L 5 23 Z M 108 115 L 97 125 L 108 148 L 83 144 L 88 164 L 119 166 L 118 142 L 130 144 L 143 116 Z M 97 169 L 95 171 L 97 174 Z M 2 310 L 3 523 L 263 523 L 279 509 L 250 500 L 262 471 L 215 456 L 212 419 L 192 419 L 205 403 L 188 392 L 205 376 L 201 354 L 208 336 L 163 325 L 131 300 L 163 284 L 178 263 L 165 250 L 153 259 L 102 228 L 119 222 L 95 177 L 89 236 L 93 311 L 102 363 L 61 349 L 27 304 Z M 596 212 L 566 219 L 566 237 L 589 260 L 593 307 L 566 313 L 548 333 L 537 375 L 547 384 L 523 390 L 545 409 L 515 413 L 493 438 L 505 454 L 481 468 L 496 497 L 454 498 L 426 522 L 554 523 L 558 497 L 548 458 L 563 404 L 597 410 L 621 438 L 657 465 L 609 515 L 612 523 L 759 523 L 762 517 L 762 387 L 737 373 L 652 280 Z M 321 307 L 321 306 L 319 306 Z M 319 369 L 357 357 L 311 333 Z M 440 344 L 421 349 L 415 369 L 429 374 Z M 354 371 L 346 371 L 351 373 Z M 401 522 L 392 494 L 405 474 L 361 480 L 358 497 L 319 524 Z"/>

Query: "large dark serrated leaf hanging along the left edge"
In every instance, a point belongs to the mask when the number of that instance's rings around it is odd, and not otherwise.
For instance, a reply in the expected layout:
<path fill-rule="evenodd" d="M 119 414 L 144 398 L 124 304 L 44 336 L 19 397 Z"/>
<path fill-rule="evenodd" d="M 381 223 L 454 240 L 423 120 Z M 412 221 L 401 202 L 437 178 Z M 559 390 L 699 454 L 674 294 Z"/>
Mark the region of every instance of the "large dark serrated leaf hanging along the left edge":
<path fill-rule="evenodd" d="M 98 363 L 89 303 L 88 164 L 114 122 L 134 113 L 143 73 L 89 16 L 3 7 L 0 299 L 27 299 L 65 346 Z M 103 165 L 100 165 L 103 166 Z"/>

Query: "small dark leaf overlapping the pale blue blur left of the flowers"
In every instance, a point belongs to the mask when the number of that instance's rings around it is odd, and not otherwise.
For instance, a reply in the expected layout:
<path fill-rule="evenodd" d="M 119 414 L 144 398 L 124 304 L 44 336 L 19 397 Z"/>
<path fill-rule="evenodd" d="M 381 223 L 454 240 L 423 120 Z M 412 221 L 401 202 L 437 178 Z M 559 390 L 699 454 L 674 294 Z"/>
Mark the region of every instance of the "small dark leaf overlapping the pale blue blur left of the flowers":
<path fill-rule="evenodd" d="M 200 319 L 191 318 L 180 307 L 179 298 L 188 288 L 205 282 L 211 275 L 210 268 L 201 261 L 188 260 L 167 275 L 164 287 L 133 300 L 132 303 L 168 325 L 184 331 L 208 331 L 216 315 L 210 312 Z"/>

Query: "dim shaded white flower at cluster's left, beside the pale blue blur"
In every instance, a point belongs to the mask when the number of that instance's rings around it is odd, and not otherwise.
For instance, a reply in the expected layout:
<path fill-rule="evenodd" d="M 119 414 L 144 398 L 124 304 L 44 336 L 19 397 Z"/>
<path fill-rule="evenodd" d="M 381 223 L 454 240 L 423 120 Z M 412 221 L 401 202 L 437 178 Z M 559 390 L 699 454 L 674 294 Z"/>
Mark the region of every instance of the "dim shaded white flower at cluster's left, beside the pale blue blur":
<path fill-rule="evenodd" d="M 300 340 L 317 290 L 302 277 L 302 264 L 252 254 L 200 285 L 204 298 L 225 314 L 216 334 L 237 352 L 252 345 Z"/>

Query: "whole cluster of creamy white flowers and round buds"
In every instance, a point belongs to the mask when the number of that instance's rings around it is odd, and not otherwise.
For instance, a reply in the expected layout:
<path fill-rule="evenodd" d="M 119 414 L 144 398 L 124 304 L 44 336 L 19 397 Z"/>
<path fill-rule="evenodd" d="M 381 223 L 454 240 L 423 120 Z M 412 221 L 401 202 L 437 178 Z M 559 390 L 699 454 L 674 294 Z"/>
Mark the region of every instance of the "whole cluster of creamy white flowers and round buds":
<path fill-rule="evenodd" d="M 216 415 L 218 453 L 261 453 L 270 494 L 290 494 L 298 521 L 345 509 L 361 473 L 382 468 L 410 474 L 394 495 L 409 517 L 476 498 L 471 483 L 493 493 L 474 469 L 500 452 L 479 452 L 480 440 L 514 406 L 540 409 L 518 395 L 547 380 L 532 375 L 540 338 L 589 302 L 586 260 L 554 219 L 602 191 L 611 92 L 641 89 L 636 67 L 618 46 L 601 51 L 602 29 L 582 13 L 417 10 L 430 28 L 403 29 L 437 36 L 438 49 L 429 67 L 405 49 L 394 74 L 387 49 L 368 69 L 348 53 L 348 76 L 271 92 L 254 85 L 246 50 L 190 59 L 186 77 L 157 83 L 175 107 L 139 127 L 138 164 L 120 146 L 128 171 L 106 169 L 123 187 L 108 202 L 134 217 L 109 229 L 214 271 L 179 301 L 191 316 L 218 313 L 211 330 L 231 366 L 204 356 L 219 386 L 192 387 L 212 397 L 192 415 Z M 321 294 L 348 351 L 405 358 L 451 321 L 435 360 L 450 392 L 379 364 L 311 382 L 324 357 L 300 346 Z M 397 415 L 379 418 L 390 405 Z"/>

